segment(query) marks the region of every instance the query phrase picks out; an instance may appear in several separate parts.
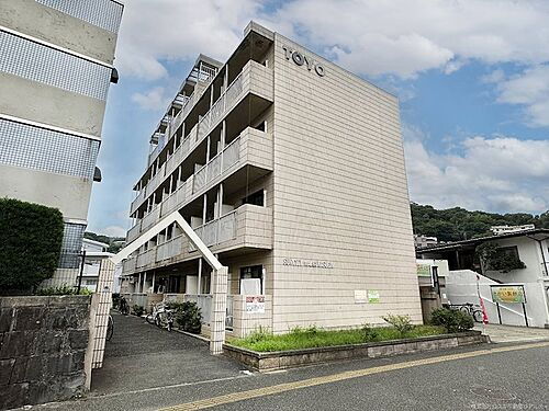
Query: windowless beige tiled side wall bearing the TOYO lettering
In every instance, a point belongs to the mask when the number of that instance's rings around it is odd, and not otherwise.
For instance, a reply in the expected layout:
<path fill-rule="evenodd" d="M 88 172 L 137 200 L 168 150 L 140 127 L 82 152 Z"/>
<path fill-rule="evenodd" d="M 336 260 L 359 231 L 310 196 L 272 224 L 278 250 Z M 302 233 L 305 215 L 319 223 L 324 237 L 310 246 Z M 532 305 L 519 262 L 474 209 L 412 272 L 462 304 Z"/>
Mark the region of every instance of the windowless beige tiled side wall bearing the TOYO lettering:
<path fill-rule="evenodd" d="M 421 322 L 396 98 L 278 34 L 273 64 L 274 332 L 382 323 L 388 312 Z M 380 302 L 357 304 L 355 290 L 377 290 Z"/>

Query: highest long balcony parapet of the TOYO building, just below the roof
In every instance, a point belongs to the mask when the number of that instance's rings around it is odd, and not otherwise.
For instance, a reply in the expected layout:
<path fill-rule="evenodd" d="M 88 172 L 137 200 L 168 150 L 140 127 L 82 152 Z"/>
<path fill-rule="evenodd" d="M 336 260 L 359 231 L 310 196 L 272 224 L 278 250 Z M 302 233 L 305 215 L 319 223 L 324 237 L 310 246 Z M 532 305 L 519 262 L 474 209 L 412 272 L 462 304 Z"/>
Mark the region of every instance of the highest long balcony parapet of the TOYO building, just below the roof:
<path fill-rule="evenodd" d="M 170 156 L 164 165 L 158 169 L 157 173 L 149 180 L 145 190 L 144 197 L 139 195 L 131 206 L 131 209 L 136 210 L 146 201 L 164 180 L 206 138 L 206 136 L 226 117 L 226 115 L 249 93 L 269 102 L 273 101 L 273 71 L 254 60 L 250 60 L 244 66 L 240 73 L 233 80 L 225 92 L 212 105 L 210 111 L 201 117 L 199 123 L 191 129 L 189 135 L 183 139 L 183 142 Z M 200 93 L 199 93 L 200 94 Z M 171 132 L 184 121 L 189 112 L 192 110 L 200 95 L 197 91 L 189 98 L 183 109 L 179 114 L 171 119 Z M 161 148 L 159 146 L 150 153 L 149 164 L 154 162 L 159 155 Z M 133 213 L 133 212 L 132 212 Z"/>

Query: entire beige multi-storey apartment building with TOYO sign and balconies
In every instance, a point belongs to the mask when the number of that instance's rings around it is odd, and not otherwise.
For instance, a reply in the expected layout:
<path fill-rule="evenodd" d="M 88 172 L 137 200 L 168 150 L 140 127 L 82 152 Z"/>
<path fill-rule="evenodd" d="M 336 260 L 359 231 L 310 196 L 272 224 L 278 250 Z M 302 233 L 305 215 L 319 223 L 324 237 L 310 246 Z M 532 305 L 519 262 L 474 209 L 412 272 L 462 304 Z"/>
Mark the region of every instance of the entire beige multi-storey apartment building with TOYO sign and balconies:
<path fill-rule="evenodd" d="M 227 330 L 422 320 L 397 99 L 254 22 L 199 56 L 150 138 L 131 242 L 179 210 L 228 266 Z M 173 225 L 124 262 L 132 302 L 211 311 L 211 270 Z"/>

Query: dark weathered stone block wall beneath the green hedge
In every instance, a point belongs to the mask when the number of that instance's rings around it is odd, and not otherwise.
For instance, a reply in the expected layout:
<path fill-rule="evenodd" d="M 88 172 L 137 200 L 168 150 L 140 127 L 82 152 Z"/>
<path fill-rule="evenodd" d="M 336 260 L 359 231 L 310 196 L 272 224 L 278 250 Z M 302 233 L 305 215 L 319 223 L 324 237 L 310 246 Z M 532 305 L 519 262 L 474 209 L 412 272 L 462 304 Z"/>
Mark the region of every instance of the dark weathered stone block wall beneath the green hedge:
<path fill-rule="evenodd" d="M 0 298 L 0 409 L 85 391 L 89 308 L 88 296 Z"/>

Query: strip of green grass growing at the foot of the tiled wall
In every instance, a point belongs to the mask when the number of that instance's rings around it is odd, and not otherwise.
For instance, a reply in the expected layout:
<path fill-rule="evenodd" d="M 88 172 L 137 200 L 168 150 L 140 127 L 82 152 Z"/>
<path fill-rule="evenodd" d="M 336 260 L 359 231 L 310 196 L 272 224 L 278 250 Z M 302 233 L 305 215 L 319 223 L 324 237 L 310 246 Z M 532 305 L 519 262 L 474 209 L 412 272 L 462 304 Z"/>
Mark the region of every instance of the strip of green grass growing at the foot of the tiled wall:
<path fill-rule="evenodd" d="M 362 327 L 350 330 L 327 331 L 316 327 L 295 328 L 287 334 L 273 335 L 265 329 L 254 331 L 245 339 L 235 339 L 231 344 L 257 352 L 314 349 L 318 346 L 362 344 L 389 340 L 444 334 L 444 327 L 414 326 L 401 334 L 393 327 Z"/>

